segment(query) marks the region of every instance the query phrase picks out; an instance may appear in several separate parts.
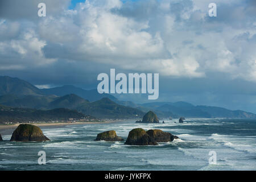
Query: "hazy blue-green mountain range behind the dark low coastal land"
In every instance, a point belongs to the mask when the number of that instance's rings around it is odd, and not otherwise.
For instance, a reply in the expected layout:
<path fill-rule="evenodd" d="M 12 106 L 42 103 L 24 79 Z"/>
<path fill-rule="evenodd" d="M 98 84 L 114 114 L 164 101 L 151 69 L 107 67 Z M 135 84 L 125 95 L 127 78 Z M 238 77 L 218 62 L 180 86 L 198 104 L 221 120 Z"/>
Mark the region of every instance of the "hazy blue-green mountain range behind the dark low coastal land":
<path fill-rule="evenodd" d="M 222 107 L 195 106 L 188 102 L 151 102 L 135 104 L 119 101 L 111 94 L 99 94 L 96 89 L 84 90 L 73 85 L 39 89 L 27 81 L 9 76 L 0 76 L 0 104 L 30 108 L 77 110 L 97 118 L 142 118 L 148 110 L 160 118 L 256 118 L 242 110 Z"/>

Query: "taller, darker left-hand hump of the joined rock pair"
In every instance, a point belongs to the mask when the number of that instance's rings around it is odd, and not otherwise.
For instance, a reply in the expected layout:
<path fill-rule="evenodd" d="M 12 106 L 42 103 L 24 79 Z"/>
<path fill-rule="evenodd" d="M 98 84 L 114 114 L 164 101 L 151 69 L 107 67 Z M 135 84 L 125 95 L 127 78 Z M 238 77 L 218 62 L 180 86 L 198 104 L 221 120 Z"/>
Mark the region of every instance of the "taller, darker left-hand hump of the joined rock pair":
<path fill-rule="evenodd" d="M 128 138 L 125 144 L 129 145 L 139 145 L 139 146 L 147 146 L 147 145 L 156 145 L 158 143 L 155 142 L 143 129 L 133 129 L 129 132 Z"/>

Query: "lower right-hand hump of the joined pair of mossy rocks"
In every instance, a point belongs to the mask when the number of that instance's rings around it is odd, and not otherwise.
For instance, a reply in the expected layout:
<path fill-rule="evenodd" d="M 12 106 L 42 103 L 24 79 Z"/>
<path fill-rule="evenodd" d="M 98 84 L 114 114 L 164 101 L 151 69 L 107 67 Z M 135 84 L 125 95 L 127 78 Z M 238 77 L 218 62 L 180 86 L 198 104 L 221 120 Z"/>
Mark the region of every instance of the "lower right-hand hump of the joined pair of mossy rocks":
<path fill-rule="evenodd" d="M 155 142 L 172 142 L 172 140 L 179 138 L 162 130 L 148 130 L 147 134 L 155 140 Z"/>

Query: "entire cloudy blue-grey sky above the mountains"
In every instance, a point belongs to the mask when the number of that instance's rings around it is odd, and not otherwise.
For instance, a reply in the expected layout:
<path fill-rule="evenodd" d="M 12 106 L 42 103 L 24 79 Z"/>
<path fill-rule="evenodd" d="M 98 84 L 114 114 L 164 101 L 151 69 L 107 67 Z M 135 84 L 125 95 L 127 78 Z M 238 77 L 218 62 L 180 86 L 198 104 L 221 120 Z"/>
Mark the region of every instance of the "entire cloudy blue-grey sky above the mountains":
<path fill-rule="evenodd" d="M 46 17 L 38 3 L 46 3 Z M 217 17 L 208 15 L 216 3 Z M 0 75 L 97 88 L 97 75 L 159 73 L 156 101 L 256 113 L 254 0 L 2 0 Z M 144 94 L 120 100 L 150 102 Z"/>

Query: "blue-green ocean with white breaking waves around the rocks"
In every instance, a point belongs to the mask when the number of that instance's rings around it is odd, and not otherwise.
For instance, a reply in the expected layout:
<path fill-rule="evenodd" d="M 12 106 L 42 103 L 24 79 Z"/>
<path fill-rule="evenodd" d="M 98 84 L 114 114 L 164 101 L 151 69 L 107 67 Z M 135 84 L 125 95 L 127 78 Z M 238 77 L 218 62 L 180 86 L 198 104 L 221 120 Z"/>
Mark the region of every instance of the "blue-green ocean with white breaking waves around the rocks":
<path fill-rule="evenodd" d="M 162 120 L 163 121 L 163 120 Z M 160 121 L 160 122 L 162 122 Z M 0 142 L 0 170 L 256 170 L 256 119 L 135 120 L 44 128 L 48 142 Z M 175 123 L 176 122 L 176 123 Z M 180 139 L 158 146 L 127 146 L 125 142 L 94 141 L 98 133 L 160 129 Z M 46 164 L 38 164 L 38 152 Z M 216 164 L 209 164 L 210 151 Z"/>

